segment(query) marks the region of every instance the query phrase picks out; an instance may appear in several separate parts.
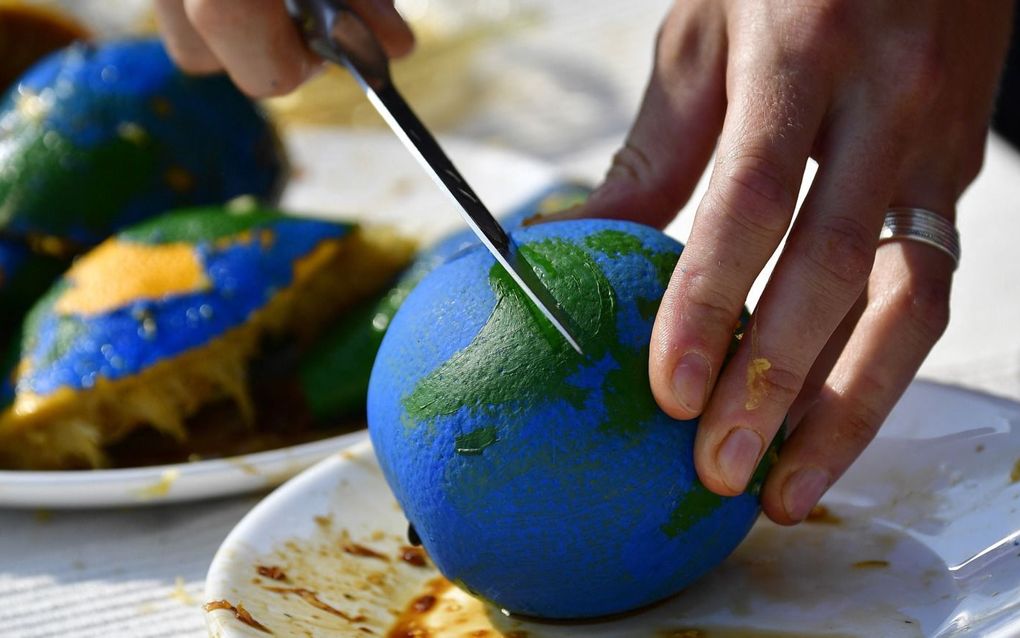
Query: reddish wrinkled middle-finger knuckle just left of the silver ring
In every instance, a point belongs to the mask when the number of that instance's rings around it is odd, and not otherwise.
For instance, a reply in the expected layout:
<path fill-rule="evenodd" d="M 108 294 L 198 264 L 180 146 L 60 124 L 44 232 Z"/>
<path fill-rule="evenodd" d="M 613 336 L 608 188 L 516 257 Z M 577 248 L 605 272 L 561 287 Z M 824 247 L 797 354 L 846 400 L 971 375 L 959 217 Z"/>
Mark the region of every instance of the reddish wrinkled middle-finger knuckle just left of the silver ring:
<path fill-rule="evenodd" d="M 832 217 L 807 240 L 812 273 L 844 286 L 862 288 L 875 259 L 877 236 L 853 217 Z"/>

